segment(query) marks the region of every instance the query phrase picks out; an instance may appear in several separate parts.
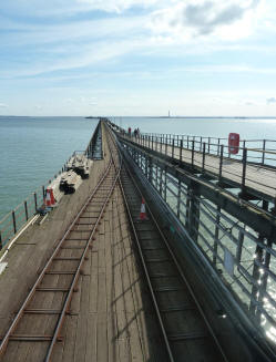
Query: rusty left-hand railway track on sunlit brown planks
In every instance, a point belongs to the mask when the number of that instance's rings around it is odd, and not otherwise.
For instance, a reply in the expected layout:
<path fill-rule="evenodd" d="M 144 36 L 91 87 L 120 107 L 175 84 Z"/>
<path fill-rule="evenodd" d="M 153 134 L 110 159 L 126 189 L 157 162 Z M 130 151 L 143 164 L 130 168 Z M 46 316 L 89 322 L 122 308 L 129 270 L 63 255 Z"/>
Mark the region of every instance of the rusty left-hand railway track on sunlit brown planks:
<path fill-rule="evenodd" d="M 111 159 L 1 339 L 0 361 L 50 361 L 70 302 L 93 244 L 98 226 L 113 194 L 120 174 L 114 144 L 109 136 Z"/>

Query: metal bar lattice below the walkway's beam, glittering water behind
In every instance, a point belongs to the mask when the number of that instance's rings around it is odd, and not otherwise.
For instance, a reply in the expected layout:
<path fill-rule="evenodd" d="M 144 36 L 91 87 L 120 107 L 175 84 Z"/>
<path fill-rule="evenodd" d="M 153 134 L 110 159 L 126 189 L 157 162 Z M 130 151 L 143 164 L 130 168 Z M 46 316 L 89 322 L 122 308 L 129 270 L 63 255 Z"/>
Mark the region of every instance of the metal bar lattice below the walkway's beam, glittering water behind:
<path fill-rule="evenodd" d="M 227 214 L 215 200 L 197 194 L 188 182 L 177 179 L 171 174 L 173 165 L 172 169 L 161 166 L 146 149 L 137 151 L 124 138 L 122 143 L 125 153 L 181 221 L 191 242 L 200 248 L 224 286 L 243 308 L 246 307 L 254 323 L 276 342 L 275 240 Z"/>

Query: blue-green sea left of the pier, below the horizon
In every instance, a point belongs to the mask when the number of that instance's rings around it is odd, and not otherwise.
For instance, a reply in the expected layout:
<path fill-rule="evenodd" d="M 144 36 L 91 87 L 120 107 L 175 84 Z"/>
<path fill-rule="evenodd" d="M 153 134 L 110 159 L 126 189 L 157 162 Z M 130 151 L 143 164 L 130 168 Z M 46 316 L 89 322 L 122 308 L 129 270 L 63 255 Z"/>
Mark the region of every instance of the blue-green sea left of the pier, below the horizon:
<path fill-rule="evenodd" d="M 84 151 L 96 120 L 0 117 L 0 220 L 47 185 L 74 151 Z"/>

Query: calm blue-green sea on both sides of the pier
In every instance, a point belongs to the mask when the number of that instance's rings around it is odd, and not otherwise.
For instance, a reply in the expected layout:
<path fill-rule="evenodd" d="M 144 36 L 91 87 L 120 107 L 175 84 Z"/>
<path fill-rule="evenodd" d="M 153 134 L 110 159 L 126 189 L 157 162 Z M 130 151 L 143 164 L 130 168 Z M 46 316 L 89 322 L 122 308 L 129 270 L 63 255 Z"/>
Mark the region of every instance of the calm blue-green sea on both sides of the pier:
<path fill-rule="evenodd" d="M 111 117 L 141 132 L 276 139 L 276 118 Z M 96 120 L 0 117 L 0 219 L 58 173 L 74 151 L 85 149 Z"/>

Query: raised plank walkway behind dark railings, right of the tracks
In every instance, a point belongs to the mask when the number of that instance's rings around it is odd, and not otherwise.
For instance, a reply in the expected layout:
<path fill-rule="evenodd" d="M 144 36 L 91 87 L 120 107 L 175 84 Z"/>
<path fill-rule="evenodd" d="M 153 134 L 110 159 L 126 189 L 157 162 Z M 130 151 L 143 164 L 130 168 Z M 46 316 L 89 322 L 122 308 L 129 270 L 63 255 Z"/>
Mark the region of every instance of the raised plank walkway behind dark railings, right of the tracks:
<path fill-rule="evenodd" d="M 174 158 L 194 173 L 205 174 L 209 179 L 218 179 L 226 188 L 239 188 L 245 199 L 275 201 L 276 159 L 270 158 L 275 161 L 274 167 L 263 164 L 262 159 L 265 153 L 275 157 L 276 151 L 239 147 L 239 156 L 231 156 L 226 145 L 209 145 L 194 141 L 185 144 L 178 136 L 167 139 L 165 136 L 127 136 L 125 133 L 119 135 L 160 156 Z"/>

